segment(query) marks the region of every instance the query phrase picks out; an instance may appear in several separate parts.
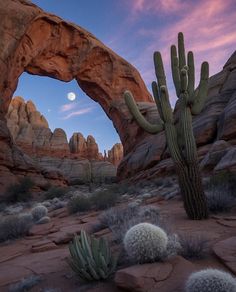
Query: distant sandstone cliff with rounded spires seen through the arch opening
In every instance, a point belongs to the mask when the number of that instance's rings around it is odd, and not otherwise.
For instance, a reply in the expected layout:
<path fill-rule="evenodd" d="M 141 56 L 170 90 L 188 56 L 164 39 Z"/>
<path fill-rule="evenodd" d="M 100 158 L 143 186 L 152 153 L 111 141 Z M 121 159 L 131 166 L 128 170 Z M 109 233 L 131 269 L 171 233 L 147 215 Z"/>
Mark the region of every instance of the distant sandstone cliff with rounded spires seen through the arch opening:
<path fill-rule="evenodd" d="M 117 167 L 104 161 L 93 136 L 74 133 L 68 144 L 65 132 L 52 132 L 34 103 L 22 97 L 12 99 L 6 118 L 13 141 L 47 175 L 59 172 L 69 184 L 114 180 Z"/>

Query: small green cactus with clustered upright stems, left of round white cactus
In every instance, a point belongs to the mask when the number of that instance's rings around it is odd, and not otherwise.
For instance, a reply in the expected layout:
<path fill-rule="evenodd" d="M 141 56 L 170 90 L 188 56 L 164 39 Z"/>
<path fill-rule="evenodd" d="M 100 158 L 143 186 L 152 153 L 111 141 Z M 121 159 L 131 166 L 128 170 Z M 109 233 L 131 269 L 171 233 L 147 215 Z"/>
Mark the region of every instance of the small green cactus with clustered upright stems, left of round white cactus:
<path fill-rule="evenodd" d="M 104 238 L 96 239 L 81 230 L 69 244 L 68 264 L 83 281 L 107 279 L 116 269 L 117 259 Z"/>

